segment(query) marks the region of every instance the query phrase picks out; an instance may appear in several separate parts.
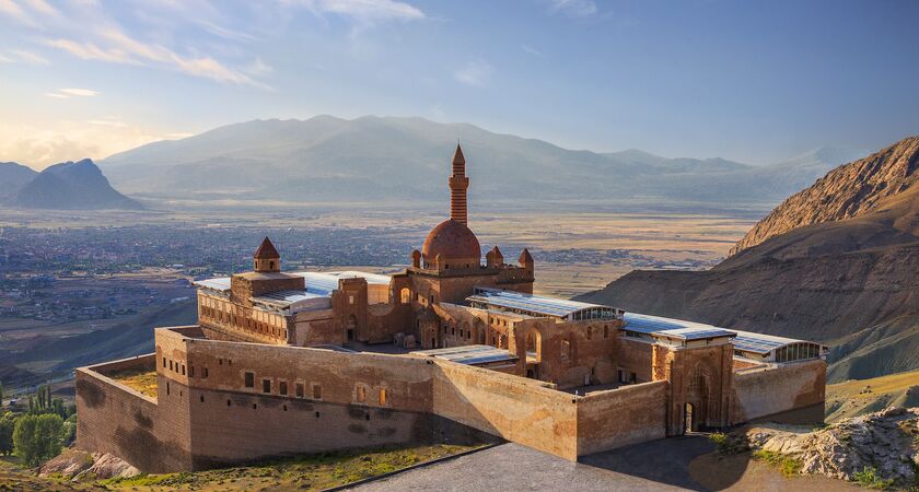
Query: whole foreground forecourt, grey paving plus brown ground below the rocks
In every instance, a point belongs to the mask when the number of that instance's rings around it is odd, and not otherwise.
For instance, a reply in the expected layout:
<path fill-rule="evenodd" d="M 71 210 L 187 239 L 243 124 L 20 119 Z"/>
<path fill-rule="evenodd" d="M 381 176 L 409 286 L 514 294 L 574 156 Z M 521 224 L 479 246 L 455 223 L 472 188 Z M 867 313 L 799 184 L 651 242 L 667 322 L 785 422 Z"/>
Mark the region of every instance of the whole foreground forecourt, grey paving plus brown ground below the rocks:
<path fill-rule="evenodd" d="M 746 456 L 720 460 L 711 455 L 713 450 L 708 438 L 695 435 L 628 446 L 571 462 L 508 443 L 365 483 L 354 490 L 826 492 L 851 487 L 824 477 L 784 478 L 767 465 L 749 461 Z"/>

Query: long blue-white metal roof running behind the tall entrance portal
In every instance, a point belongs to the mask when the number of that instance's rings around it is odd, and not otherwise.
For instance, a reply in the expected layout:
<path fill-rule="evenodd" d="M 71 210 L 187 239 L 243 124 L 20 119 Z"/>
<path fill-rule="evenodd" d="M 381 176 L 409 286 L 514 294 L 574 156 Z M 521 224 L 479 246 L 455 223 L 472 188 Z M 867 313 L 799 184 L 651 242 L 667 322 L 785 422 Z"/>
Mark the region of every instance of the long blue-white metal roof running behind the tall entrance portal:
<path fill-rule="evenodd" d="M 772 350 L 791 343 L 814 343 L 793 338 L 777 337 L 775 335 L 756 333 L 753 331 L 741 331 L 720 328 L 703 323 L 686 321 L 683 319 L 664 318 L 638 313 L 625 314 L 626 326 L 624 330 L 637 331 L 648 335 L 684 333 L 694 337 L 693 339 L 710 338 L 712 336 L 730 336 L 717 333 L 736 335 L 732 340 L 735 350 L 767 354 Z M 689 339 L 689 338 L 687 338 Z M 814 343 L 819 344 L 819 343 Z"/>

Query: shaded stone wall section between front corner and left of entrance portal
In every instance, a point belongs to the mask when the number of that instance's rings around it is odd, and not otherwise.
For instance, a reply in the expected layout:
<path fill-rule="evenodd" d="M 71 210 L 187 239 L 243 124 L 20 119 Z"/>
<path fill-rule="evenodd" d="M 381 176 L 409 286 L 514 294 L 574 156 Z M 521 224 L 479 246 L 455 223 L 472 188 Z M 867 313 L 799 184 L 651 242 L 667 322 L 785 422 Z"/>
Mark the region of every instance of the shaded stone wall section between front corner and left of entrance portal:
<path fill-rule="evenodd" d="M 578 398 L 578 455 L 666 435 L 667 382 L 655 380 Z"/>

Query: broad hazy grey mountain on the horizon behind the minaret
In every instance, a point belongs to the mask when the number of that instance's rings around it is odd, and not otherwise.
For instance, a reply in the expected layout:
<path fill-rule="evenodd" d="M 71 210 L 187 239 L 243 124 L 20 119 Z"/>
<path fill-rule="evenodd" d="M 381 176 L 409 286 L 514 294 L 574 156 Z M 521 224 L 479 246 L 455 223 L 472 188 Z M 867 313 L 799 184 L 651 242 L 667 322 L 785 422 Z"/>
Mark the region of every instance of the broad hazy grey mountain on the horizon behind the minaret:
<path fill-rule="evenodd" d="M 229 125 L 143 145 L 101 165 L 119 189 L 154 197 L 405 202 L 446 195 L 457 140 L 474 179 L 470 194 L 479 200 L 773 203 L 800 189 L 784 168 L 636 150 L 572 151 L 467 124 L 372 116 Z"/>

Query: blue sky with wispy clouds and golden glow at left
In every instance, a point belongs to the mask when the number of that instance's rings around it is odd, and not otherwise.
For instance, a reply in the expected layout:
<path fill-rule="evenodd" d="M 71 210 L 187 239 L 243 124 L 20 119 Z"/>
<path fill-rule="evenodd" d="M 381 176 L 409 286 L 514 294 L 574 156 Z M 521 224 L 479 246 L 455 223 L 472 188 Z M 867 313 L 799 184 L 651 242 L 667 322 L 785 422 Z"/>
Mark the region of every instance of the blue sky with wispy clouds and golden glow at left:
<path fill-rule="evenodd" d="M 0 162 L 420 116 L 766 164 L 919 133 L 919 2 L 0 0 Z"/>

